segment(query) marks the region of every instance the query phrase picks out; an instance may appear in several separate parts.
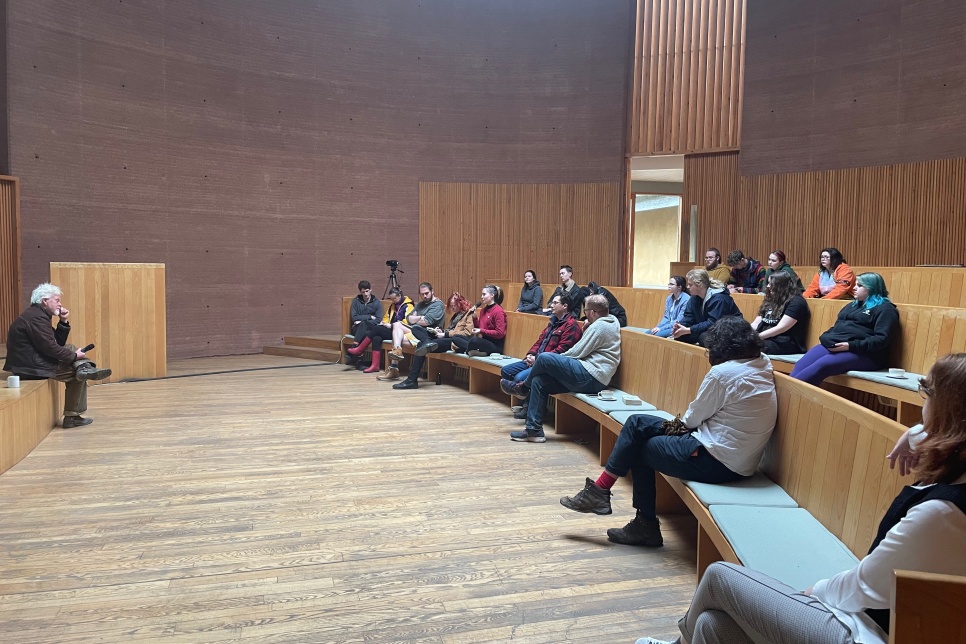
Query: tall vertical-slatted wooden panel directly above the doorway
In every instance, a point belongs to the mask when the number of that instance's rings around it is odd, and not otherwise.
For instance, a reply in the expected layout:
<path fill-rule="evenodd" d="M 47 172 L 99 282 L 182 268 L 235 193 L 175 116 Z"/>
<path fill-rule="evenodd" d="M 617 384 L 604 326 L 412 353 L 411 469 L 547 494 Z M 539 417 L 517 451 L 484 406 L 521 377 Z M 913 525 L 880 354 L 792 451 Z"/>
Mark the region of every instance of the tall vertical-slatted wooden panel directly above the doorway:
<path fill-rule="evenodd" d="M 734 150 L 745 0 L 638 0 L 631 153 Z"/>

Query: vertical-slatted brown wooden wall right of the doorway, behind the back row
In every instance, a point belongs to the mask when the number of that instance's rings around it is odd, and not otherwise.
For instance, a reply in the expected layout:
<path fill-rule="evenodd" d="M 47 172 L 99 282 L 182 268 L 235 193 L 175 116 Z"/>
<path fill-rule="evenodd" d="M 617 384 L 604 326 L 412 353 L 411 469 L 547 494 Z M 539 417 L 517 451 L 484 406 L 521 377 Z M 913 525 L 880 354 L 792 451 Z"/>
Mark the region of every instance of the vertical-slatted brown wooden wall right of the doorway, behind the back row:
<path fill-rule="evenodd" d="M 689 155 L 685 230 L 692 204 L 702 250 L 780 248 L 809 264 L 834 246 L 855 266 L 966 263 L 966 158 L 740 176 L 736 152 Z"/>

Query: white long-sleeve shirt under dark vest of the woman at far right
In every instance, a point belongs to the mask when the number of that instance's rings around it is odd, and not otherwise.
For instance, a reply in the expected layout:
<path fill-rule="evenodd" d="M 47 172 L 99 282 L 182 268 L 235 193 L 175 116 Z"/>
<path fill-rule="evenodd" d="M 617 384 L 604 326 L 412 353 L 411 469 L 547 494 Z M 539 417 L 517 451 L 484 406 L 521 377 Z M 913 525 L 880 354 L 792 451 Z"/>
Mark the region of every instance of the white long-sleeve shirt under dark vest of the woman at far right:
<path fill-rule="evenodd" d="M 910 434 L 915 445 L 916 430 Z M 954 484 L 966 483 L 966 474 Z M 966 575 L 966 513 L 950 501 L 931 500 L 909 510 L 878 547 L 851 570 L 815 584 L 812 595 L 852 631 L 861 644 L 885 644 L 888 636 L 865 614 L 892 604 L 896 570 Z"/>

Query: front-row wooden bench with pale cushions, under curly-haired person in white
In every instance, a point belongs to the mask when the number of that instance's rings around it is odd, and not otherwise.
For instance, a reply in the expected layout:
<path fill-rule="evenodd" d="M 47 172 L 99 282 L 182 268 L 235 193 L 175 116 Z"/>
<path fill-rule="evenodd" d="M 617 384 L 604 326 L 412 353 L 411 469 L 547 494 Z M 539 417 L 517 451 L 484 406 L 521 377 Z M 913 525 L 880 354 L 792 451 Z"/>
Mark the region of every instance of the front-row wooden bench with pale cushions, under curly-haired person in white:
<path fill-rule="evenodd" d="M 642 365 L 647 368 L 640 368 Z M 619 385 L 659 410 L 682 413 L 708 368 L 703 351 L 697 347 L 635 331 L 622 333 Z M 712 496 L 721 496 L 743 484 L 702 486 L 669 476 L 658 478 L 659 512 L 673 511 L 669 497 L 676 496 L 697 519 L 698 578 L 711 563 L 729 561 L 805 588 L 847 569 L 868 550 L 881 517 L 909 482 L 900 481 L 885 458 L 904 427 L 784 374 L 777 373 L 775 380 L 778 422 L 762 459 L 764 476 L 756 477 L 764 484 L 753 481 L 748 489 L 739 489 L 737 498 L 741 501 L 715 503 L 703 500 L 702 495 L 710 490 Z M 572 395 L 557 397 L 558 426 L 564 421 L 580 422 L 580 417 L 584 423 L 597 424 L 602 464 L 620 432 L 623 420 L 618 418 L 628 415 L 601 413 Z M 777 484 L 779 492 L 784 491 L 791 502 L 773 503 L 775 486 L 769 481 Z M 768 500 L 761 504 L 748 501 L 748 495 L 757 497 L 759 490 L 770 495 Z M 817 551 L 816 544 L 821 544 Z M 959 632 L 948 629 L 961 627 L 949 624 L 961 624 L 960 613 L 948 608 L 939 612 L 918 600 L 918 595 L 941 588 L 942 593 L 963 597 L 966 579 L 937 581 L 934 577 L 921 573 L 897 576 L 899 609 L 893 620 L 904 625 L 897 626 L 901 639 L 894 641 L 941 641 L 922 638 L 935 637 L 937 632 Z M 931 623 L 926 625 L 914 616 L 920 614 L 927 615 Z"/>

